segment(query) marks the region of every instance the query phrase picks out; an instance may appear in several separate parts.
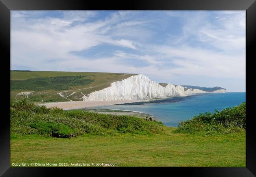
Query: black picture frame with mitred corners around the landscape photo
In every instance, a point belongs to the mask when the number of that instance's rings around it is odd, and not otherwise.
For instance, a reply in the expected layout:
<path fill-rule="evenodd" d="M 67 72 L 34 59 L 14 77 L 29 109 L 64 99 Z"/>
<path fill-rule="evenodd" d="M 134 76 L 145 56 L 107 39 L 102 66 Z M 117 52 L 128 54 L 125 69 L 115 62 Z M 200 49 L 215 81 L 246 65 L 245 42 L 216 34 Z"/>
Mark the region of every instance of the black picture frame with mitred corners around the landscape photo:
<path fill-rule="evenodd" d="M 10 11 L 11 10 L 246 10 L 246 76 L 254 76 L 253 61 L 255 57 L 254 44 L 256 43 L 256 2 L 255 0 L 130 0 L 130 1 L 96 1 L 96 0 L 0 0 L 0 45 L 2 65 L 6 90 L 9 92 L 10 78 L 8 72 L 8 58 L 10 56 Z M 187 174 L 189 176 L 227 176 L 227 177 L 250 177 L 256 175 L 256 140 L 255 128 L 252 116 L 252 84 L 254 80 L 246 82 L 247 101 L 247 131 L 246 131 L 246 167 L 245 168 L 142 168 L 142 170 L 158 173 L 158 170 L 170 174 Z M 9 137 L 9 96 L 2 100 L 5 104 L 2 110 L 6 113 L 1 116 L 0 124 L 1 152 L 0 152 L 0 175 L 2 176 L 51 176 L 52 172 L 74 176 L 74 171 L 88 174 L 88 171 L 98 172 L 99 168 L 10 168 L 10 137 Z M 138 168 L 135 168 L 138 169 Z M 141 169 L 141 168 L 140 168 Z M 100 168 L 102 170 L 102 168 Z M 126 175 L 134 174 L 130 168 L 104 168 L 109 170 L 126 170 Z M 157 170 L 157 171 L 156 171 Z M 122 173 L 112 172 L 112 175 Z M 159 173 L 158 173 L 159 174 Z M 162 173 L 163 174 L 163 173 Z"/>

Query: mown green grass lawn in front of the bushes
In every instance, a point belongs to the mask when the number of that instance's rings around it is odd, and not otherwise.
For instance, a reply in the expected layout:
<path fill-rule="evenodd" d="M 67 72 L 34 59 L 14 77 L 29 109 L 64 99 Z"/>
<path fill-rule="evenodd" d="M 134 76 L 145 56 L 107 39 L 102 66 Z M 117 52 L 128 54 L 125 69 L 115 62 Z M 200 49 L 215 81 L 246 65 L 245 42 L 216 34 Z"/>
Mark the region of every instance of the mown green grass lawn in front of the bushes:
<path fill-rule="evenodd" d="M 117 163 L 122 166 L 245 167 L 245 133 L 84 134 L 73 138 L 11 137 L 12 163 Z"/>

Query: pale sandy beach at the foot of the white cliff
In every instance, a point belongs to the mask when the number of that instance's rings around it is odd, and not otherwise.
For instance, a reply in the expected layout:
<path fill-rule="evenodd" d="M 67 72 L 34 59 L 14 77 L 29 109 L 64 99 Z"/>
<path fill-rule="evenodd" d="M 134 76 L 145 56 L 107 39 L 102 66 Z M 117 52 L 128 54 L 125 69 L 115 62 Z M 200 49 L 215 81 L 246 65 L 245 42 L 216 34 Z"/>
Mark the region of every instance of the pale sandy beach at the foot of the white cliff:
<path fill-rule="evenodd" d="M 66 101 L 66 102 L 54 102 L 54 103 L 41 103 L 39 105 L 46 105 L 46 107 L 59 107 L 63 110 L 69 109 L 83 109 L 89 107 L 115 105 L 123 103 L 134 103 L 143 100 L 113 100 L 113 101 Z M 145 100 L 144 100 L 145 101 Z"/>

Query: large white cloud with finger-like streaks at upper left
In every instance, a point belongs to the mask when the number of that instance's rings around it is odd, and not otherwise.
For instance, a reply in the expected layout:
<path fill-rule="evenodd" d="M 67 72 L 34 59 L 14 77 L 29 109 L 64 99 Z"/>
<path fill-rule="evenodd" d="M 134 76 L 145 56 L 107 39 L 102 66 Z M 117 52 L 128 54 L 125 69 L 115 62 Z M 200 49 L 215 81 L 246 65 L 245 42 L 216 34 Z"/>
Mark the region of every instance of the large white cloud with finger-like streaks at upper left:
<path fill-rule="evenodd" d="M 133 41 L 113 39 L 111 36 L 98 32 L 117 21 L 118 17 L 115 15 L 105 21 L 99 20 L 72 26 L 74 21 L 81 20 L 81 13 L 76 18 L 76 13 L 65 12 L 64 16 L 69 18 L 66 17 L 64 19 L 50 17 L 25 19 L 24 16 L 17 14 L 21 13 L 15 12 L 14 16 L 12 16 L 12 24 L 14 25 L 14 28 L 11 29 L 13 63 L 19 63 L 17 61 L 18 58 L 23 58 L 24 60 L 36 59 L 37 61 L 50 58 L 72 60 L 77 57 L 71 55 L 70 52 L 86 50 L 104 43 L 132 49 L 136 48 Z M 91 12 L 89 15 L 92 15 Z M 93 15 L 95 14 L 93 13 Z M 27 17 L 28 15 L 26 15 Z M 17 21 L 20 20 L 23 21 L 23 24 L 19 26 Z"/>

